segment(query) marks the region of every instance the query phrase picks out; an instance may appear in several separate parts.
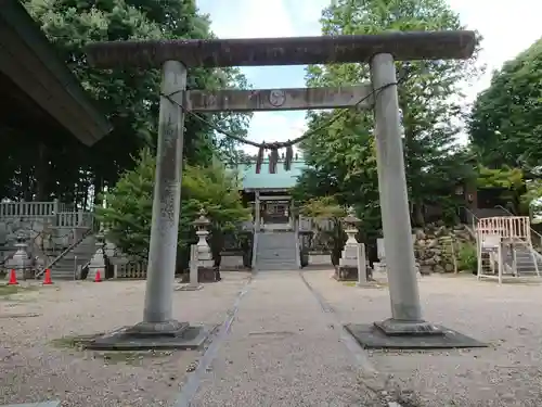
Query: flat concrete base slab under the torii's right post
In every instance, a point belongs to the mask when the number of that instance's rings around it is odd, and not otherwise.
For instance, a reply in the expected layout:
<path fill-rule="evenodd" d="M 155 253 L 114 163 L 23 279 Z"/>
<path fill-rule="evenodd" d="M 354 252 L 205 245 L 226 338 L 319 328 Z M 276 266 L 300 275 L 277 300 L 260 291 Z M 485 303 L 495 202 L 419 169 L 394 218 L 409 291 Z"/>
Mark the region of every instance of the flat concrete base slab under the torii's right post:
<path fill-rule="evenodd" d="M 449 349 L 487 347 L 473 338 L 451 329 L 435 326 L 441 334 L 386 334 L 374 323 L 348 323 L 346 330 L 365 349 Z"/>

